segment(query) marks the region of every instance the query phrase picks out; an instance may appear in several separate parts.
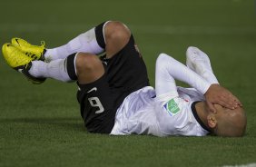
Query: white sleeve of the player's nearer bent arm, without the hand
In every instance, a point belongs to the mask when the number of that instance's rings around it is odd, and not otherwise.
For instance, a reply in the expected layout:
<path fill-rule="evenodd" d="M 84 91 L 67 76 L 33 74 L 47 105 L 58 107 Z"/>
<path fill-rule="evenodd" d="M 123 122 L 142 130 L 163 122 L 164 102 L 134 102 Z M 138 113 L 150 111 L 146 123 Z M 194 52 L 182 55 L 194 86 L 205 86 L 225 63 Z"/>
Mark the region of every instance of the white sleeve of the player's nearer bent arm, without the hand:
<path fill-rule="evenodd" d="M 202 76 L 196 74 L 168 54 L 159 55 L 156 61 L 155 73 L 155 91 L 157 97 L 164 94 L 169 94 L 169 98 L 177 97 L 175 79 L 190 84 L 202 94 L 206 93 L 211 85 Z"/>

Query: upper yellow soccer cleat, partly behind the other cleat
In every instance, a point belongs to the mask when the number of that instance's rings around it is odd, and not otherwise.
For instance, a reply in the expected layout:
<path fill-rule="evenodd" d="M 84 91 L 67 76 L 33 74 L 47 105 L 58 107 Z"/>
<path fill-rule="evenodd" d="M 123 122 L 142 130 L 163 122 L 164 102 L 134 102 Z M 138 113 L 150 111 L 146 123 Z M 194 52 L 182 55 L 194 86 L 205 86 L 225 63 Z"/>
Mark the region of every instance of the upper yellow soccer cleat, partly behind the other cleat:
<path fill-rule="evenodd" d="M 44 61 L 44 41 L 41 42 L 42 45 L 33 45 L 26 42 L 24 39 L 21 38 L 13 38 L 12 44 L 24 52 L 27 56 L 31 57 L 33 60 L 42 60 Z"/>

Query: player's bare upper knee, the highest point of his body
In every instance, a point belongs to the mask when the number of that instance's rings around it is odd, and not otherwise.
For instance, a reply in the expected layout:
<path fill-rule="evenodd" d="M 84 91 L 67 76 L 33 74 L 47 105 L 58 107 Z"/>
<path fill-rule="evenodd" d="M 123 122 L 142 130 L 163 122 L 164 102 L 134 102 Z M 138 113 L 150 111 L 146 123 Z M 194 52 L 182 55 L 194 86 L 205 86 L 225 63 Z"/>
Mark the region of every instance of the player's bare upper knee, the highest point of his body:
<path fill-rule="evenodd" d="M 104 29 L 105 40 L 113 40 L 119 43 L 127 43 L 130 39 L 131 32 L 126 25 L 121 22 L 111 21 L 105 25 Z"/>

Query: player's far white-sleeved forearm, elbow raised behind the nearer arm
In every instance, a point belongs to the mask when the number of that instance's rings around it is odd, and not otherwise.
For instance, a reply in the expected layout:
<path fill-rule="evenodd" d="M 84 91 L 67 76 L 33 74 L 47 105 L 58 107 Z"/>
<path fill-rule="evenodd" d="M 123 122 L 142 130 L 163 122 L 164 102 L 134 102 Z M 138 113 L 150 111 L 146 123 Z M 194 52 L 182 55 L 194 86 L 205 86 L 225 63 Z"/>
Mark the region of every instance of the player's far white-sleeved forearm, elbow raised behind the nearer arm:
<path fill-rule="evenodd" d="M 207 54 L 199 48 L 190 46 L 186 52 L 187 66 L 195 73 L 201 75 L 209 83 L 218 83 L 216 76 L 213 74 L 210 59 Z"/>

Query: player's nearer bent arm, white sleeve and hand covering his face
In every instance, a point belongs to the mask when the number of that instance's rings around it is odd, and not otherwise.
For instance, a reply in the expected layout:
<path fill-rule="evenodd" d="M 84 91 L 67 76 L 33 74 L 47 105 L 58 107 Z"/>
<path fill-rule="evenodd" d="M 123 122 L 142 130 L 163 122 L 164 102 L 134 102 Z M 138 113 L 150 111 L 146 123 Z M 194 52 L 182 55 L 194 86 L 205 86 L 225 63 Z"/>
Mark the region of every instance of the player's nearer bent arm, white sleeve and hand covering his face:
<path fill-rule="evenodd" d="M 213 103 L 218 103 L 224 107 L 234 109 L 241 105 L 239 100 L 232 95 L 230 91 L 223 88 L 219 84 L 209 83 L 202 76 L 196 74 L 184 64 L 176 61 L 167 54 L 160 54 L 156 63 L 156 93 L 166 93 L 166 90 L 176 91 L 174 79 L 190 84 L 200 93 L 204 94 L 206 102 L 208 103 L 212 112 L 215 112 Z M 160 75 L 161 77 L 157 76 Z M 171 82 L 172 81 L 172 82 Z M 167 85 L 162 86 L 163 82 Z M 160 91 L 159 91 L 160 90 Z M 175 93 L 172 93 L 175 94 Z"/>

